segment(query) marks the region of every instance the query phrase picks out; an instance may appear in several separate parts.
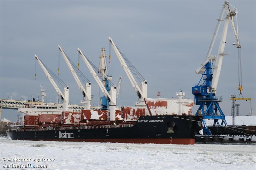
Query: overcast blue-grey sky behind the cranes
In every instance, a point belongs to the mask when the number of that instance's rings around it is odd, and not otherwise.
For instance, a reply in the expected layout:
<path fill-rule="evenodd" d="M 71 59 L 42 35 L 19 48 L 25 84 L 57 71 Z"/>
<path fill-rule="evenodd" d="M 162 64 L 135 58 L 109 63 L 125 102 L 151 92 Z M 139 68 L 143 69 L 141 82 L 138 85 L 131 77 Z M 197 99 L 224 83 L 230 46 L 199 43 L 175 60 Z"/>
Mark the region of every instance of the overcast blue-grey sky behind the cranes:
<path fill-rule="evenodd" d="M 99 65 L 101 47 L 109 55 L 110 36 L 126 57 L 148 81 L 148 97 L 175 97 L 180 89 L 194 99 L 191 89 L 201 75 L 195 70 L 204 62 L 224 1 L 0 1 L 0 98 L 36 99 L 40 85 L 46 87 L 47 102 L 56 102 L 57 93 L 37 63 L 36 54 L 51 70 L 58 72 L 58 45 L 78 63 L 77 48 Z M 252 98 L 255 111 L 256 1 L 230 1 L 238 9 L 238 32 L 242 51 L 243 95 Z M 223 24 L 213 55 L 217 55 Z M 230 95 L 238 95 L 237 49 L 228 28 L 217 95 L 225 115 L 231 115 Z M 138 101 L 119 60 L 111 48 L 109 73 L 117 84 L 123 76 L 117 105 L 133 106 Z M 98 86 L 85 63 L 84 75 L 92 82 L 93 105 L 97 105 Z M 60 56 L 60 76 L 69 85 L 69 102 L 79 104 L 81 92 Z M 100 93 L 102 96 L 102 93 Z M 10 98 L 10 97 L 9 97 Z M 23 99 L 22 99 L 23 100 Z M 237 102 L 238 103 L 238 102 Z M 250 113 L 250 103 L 240 102 L 240 114 Z M 193 107 L 196 112 L 198 106 Z M 16 110 L 3 109 L 4 117 L 14 121 Z"/>

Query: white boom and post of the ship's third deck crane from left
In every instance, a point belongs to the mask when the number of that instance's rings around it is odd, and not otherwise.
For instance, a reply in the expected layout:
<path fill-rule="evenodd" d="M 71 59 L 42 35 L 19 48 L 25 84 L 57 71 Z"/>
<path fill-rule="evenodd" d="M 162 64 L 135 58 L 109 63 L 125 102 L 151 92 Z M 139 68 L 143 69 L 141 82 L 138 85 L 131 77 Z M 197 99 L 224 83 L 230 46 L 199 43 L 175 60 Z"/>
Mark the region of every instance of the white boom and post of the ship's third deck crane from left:
<path fill-rule="evenodd" d="M 109 120 L 110 121 L 115 121 L 115 119 L 116 119 L 116 86 L 114 85 L 113 87 L 110 87 L 110 90 L 108 92 L 108 90 L 105 88 L 103 83 L 100 81 L 100 78 L 98 77 L 95 70 L 93 70 L 92 65 L 89 63 L 89 61 L 88 61 L 87 57 L 84 55 L 84 53 L 79 48 L 77 48 L 77 51 L 82 56 L 82 58 L 84 60 L 84 63 L 86 64 L 86 66 L 90 70 L 93 78 L 95 79 L 95 81 L 99 85 L 101 91 L 104 93 L 105 97 L 109 100 L 109 103 L 108 103 L 108 106 L 109 106 Z"/>

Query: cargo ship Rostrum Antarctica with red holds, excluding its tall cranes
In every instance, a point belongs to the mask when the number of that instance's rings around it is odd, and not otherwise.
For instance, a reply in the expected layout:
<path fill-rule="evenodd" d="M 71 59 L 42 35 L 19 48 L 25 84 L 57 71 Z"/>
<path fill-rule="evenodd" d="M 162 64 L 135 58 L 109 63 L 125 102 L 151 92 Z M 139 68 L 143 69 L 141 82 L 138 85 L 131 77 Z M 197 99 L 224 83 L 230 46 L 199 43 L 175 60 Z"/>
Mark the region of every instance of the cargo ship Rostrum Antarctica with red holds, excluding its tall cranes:
<path fill-rule="evenodd" d="M 116 110 L 115 121 L 108 120 L 107 110 L 59 114 L 58 108 L 45 107 L 41 114 L 43 106 L 36 105 L 20 109 L 23 122 L 6 133 L 13 140 L 195 144 L 195 132 L 202 129 L 201 116 L 190 114 L 193 100 L 183 101 L 183 112 L 178 114 L 177 101 L 148 98 L 146 106 Z M 29 110 L 33 115 L 25 114 Z"/>

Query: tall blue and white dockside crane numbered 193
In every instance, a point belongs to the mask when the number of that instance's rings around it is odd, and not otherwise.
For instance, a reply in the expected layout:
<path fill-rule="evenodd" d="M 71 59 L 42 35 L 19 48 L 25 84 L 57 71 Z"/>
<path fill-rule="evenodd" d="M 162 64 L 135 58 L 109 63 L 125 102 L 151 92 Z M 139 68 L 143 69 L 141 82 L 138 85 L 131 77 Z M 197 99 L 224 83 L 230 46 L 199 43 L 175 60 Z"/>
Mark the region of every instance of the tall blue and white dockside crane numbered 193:
<path fill-rule="evenodd" d="M 228 24 L 229 22 L 231 23 L 233 33 L 236 39 L 236 43 L 233 42 L 233 45 L 236 45 L 236 48 L 238 48 L 238 58 L 241 58 L 241 53 L 240 53 L 240 42 L 238 39 L 238 31 L 237 27 L 235 26 L 234 23 L 234 16 L 237 14 L 237 9 L 235 7 L 234 10 L 231 10 L 232 5 L 229 4 L 229 2 L 224 2 L 221 13 L 220 13 L 220 18 L 218 18 L 218 23 L 216 26 L 216 29 L 214 31 L 212 41 L 208 50 L 208 53 L 206 55 L 206 59 L 204 63 L 196 69 L 197 74 L 202 74 L 202 77 L 198 84 L 195 84 L 192 87 L 192 93 L 195 95 L 195 104 L 200 105 L 196 115 L 202 114 L 203 116 L 203 124 L 204 124 L 204 134 L 211 134 L 209 129 L 207 128 L 207 125 L 205 123 L 205 119 L 213 119 L 214 123 L 213 126 L 217 125 L 219 126 L 218 120 L 222 120 L 221 125 L 223 123 L 227 126 L 227 122 L 225 120 L 225 115 L 223 114 L 219 102 L 222 101 L 221 97 L 217 98 L 216 95 L 216 90 L 217 90 L 217 85 L 218 81 L 220 78 L 220 70 L 221 70 L 221 65 L 222 65 L 222 60 L 224 55 L 228 55 L 230 53 L 227 53 L 224 51 L 225 44 L 226 44 L 226 38 L 227 38 L 227 32 L 228 32 Z M 226 12 L 226 15 L 224 16 Z M 223 16 L 225 18 L 223 18 Z M 211 55 L 212 48 L 214 45 L 214 42 L 216 40 L 221 21 L 224 21 L 224 27 L 223 27 L 223 32 L 222 36 L 220 38 L 220 46 L 218 50 L 218 55 Z M 239 73 L 240 74 L 240 73 Z M 242 84 L 239 83 L 238 89 L 241 90 Z M 218 113 L 219 110 L 219 113 Z"/>

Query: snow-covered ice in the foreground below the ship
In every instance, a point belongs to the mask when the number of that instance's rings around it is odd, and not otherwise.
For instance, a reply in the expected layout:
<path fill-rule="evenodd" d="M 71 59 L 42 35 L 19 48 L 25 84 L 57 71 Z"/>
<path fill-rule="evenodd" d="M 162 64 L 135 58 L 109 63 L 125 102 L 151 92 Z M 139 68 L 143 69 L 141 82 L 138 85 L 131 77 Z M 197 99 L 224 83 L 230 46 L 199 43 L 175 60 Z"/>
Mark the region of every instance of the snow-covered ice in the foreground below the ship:
<path fill-rule="evenodd" d="M 4 158 L 31 158 L 7 162 Z M 33 162 L 33 159 L 55 159 Z M 47 165 L 43 169 L 256 169 L 256 145 L 119 144 L 17 141 L 0 138 L 3 164 Z M 17 168 L 20 169 L 20 168 Z M 26 168 L 23 168 L 26 169 Z M 37 168 L 40 169 L 40 168 Z"/>

